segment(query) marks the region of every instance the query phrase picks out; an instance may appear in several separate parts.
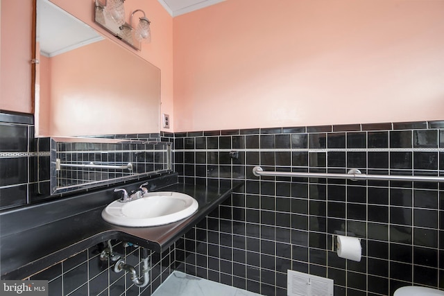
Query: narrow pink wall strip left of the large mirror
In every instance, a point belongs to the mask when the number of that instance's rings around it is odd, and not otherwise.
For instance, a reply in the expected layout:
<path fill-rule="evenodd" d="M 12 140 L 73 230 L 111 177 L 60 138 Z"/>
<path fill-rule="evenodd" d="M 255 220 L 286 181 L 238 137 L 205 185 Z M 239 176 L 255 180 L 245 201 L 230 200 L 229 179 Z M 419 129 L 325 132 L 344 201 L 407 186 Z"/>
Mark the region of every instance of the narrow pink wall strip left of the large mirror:
<path fill-rule="evenodd" d="M 24 5 L 29 3 L 29 5 Z M 31 113 L 31 0 L 1 0 L 0 110 Z"/>

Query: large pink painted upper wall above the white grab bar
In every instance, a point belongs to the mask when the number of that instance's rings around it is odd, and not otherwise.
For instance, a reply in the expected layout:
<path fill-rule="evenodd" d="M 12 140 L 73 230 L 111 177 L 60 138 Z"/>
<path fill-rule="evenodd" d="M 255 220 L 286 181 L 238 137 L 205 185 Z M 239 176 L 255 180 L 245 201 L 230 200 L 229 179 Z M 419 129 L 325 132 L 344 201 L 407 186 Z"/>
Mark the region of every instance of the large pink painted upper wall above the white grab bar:
<path fill-rule="evenodd" d="M 174 18 L 175 131 L 444 119 L 444 1 L 227 0 Z"/>

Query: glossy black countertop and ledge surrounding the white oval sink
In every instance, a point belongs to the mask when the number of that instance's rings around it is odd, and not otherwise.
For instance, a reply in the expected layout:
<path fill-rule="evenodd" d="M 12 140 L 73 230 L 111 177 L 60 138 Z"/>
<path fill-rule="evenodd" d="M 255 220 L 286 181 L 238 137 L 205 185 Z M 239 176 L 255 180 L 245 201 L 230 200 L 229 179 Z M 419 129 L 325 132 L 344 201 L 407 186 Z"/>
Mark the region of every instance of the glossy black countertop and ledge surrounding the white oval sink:
<path fill-rule="evenodd" d="M 189 218 L 157 227 L 120 227 L 105 222 L 101 211 L 115 199 L 110 191 L 0 213 L 1 279 L 25 279 L 109 239 L 162 252 L 228 198 L 232 189 L 175 183 L 156 190 L 186 193 L 199 203 L 198 211 Z M 60 209 L 65 209 L 65 217 Z M 26 221 L 29 219 L 35 219 L 35 227 L 23 226 L 31 224 Z"/>

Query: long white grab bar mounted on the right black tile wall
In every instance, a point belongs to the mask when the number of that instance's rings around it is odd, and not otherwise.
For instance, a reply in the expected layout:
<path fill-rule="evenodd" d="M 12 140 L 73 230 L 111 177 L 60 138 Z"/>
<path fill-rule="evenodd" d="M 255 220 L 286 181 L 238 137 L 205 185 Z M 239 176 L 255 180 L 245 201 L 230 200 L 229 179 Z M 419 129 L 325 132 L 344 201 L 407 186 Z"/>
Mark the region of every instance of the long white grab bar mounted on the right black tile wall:
<path fill-rule="evenodd" d="M 411 176 L 411 175 L 367 175 L 361 173 L 356 168 L 352 168 L 346 174 L 339 173 L 296 173 L 296 172 L 276 172 L 264 171 L 260 166 L 253 168 L 253 174 L 257 177 L 320 177 L 332 179 L 357 180 L 393 180 L 393 181 L 421 181 L 421 182 L 444 182 L 444 177 L 436 176 Z"/>

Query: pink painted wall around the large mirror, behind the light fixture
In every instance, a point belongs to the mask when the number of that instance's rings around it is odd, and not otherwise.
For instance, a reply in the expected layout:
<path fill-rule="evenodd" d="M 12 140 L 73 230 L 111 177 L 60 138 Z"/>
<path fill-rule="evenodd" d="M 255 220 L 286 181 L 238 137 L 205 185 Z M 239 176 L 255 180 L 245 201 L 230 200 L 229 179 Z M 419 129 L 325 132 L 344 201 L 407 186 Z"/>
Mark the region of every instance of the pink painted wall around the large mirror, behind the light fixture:
<path fill-rule="evenodd" d="M 31 32 L 32 0 L 0 0 L 1 2 L 1 75 L 0 110 L 32 113 L 31 98 Z M 101 31 L 93 21 L 94 0 L 51 0 L 72 15 Z M 140 55 L 161 69 L 162 112 L 173 113 L 173 18 L 156 0 L 126 1 L 129 12 L 141 8 L 151 20 L 151 44 L 143 44 L 142 51 L 135 51 L 115 39 L 115 42 Z M 17 21 L 19 19 L 20 21 Z M 11 25 L 13 24 L 13 26 Z M 7 28 L 7 29 L 6 29 Z M 10 30 L 14 28 L 14 30 Z M 114 38 L 114 37 L 112 37 Z M 46 124 L 46 123 L 45 123 Z M 125 123 L 122 123 L 125 125 Z"/>

